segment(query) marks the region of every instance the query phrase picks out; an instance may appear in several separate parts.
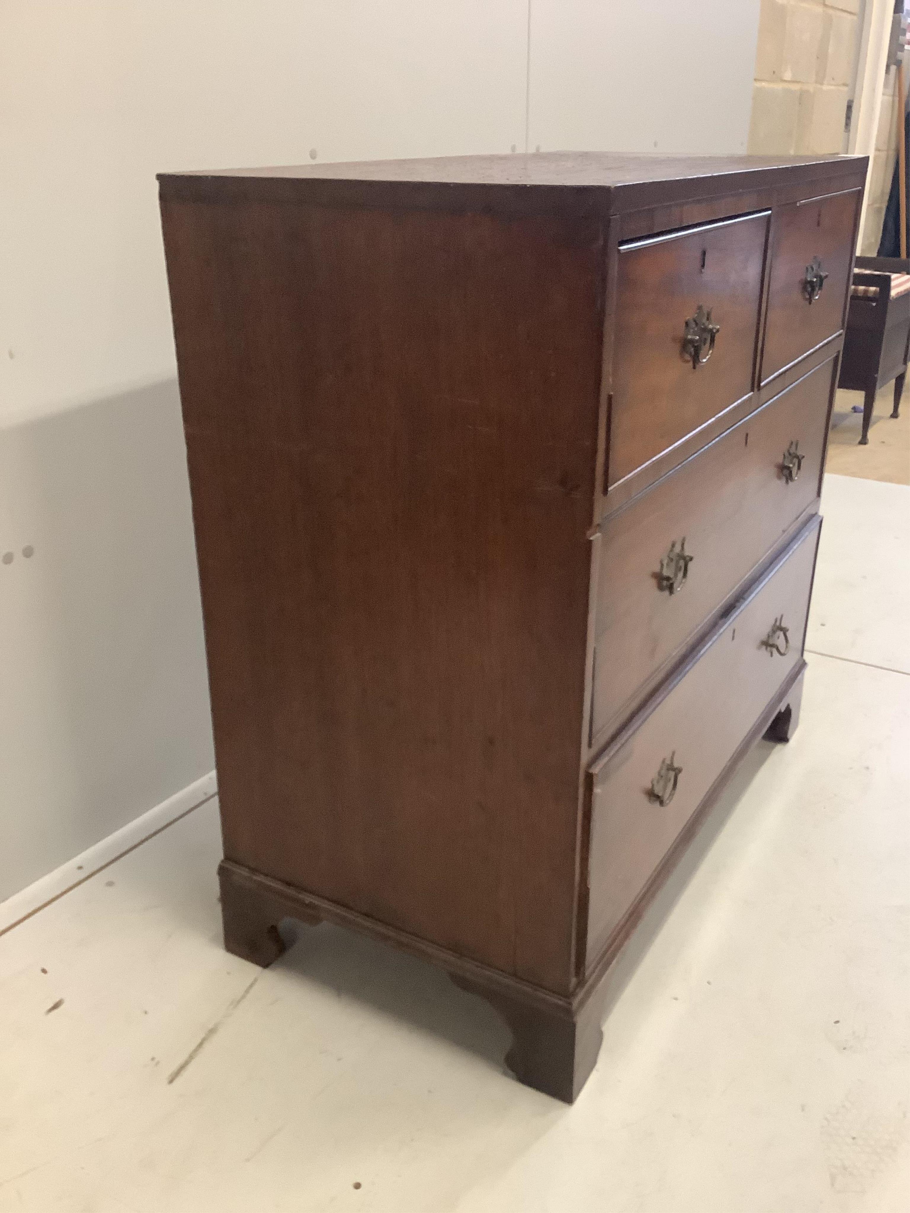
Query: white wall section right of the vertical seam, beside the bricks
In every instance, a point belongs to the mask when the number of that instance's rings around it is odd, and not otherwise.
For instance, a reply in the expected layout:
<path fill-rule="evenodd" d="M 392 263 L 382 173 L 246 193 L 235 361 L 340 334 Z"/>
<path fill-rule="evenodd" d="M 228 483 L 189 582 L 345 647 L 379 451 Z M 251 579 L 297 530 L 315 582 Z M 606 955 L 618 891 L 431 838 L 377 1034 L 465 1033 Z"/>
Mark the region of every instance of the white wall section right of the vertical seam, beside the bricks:
<path fill-rule="evenodd" d="M 744 153 L 761 0 L 530 0 L 529 150 Z"/>

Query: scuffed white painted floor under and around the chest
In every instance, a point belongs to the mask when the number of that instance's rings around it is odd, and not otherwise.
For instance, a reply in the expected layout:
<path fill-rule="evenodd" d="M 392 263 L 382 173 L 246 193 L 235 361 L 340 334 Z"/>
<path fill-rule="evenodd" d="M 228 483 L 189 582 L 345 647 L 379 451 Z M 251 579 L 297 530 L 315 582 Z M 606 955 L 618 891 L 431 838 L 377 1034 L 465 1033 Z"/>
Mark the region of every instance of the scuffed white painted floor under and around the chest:
<path fill-rule="evenodd" d="M 906 1213 L 910 488 L 824 506 L 800 729 L 656 907 L 574 1107 L 416 961 L 226 955 L 210 802 L 0 938 L 0 1211 Z"/>

